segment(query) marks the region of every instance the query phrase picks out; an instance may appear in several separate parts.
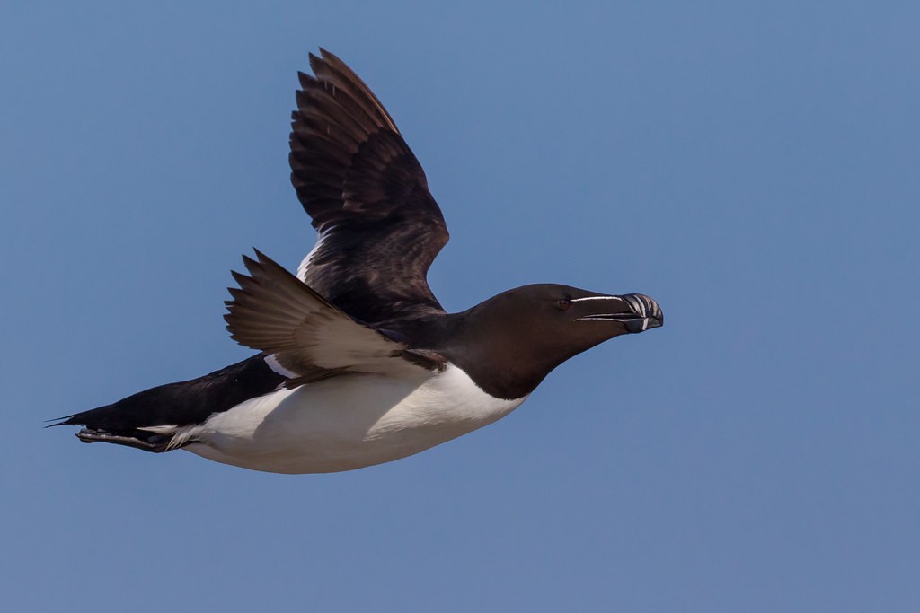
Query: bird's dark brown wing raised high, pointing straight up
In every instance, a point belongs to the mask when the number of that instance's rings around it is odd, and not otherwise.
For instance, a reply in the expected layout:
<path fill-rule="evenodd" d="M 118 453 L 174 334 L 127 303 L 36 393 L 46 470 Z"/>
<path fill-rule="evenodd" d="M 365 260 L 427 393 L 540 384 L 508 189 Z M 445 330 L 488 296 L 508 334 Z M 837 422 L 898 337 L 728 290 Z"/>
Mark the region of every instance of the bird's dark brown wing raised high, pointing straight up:
<path fill-rule="evenodd" d="M 426 275 L 448 234 L 425 173 L 361 78 L 320 55 L 292 115 L 291 182 L 319 231 L 298 277 L 365 322 L 443 312 Z"/>

